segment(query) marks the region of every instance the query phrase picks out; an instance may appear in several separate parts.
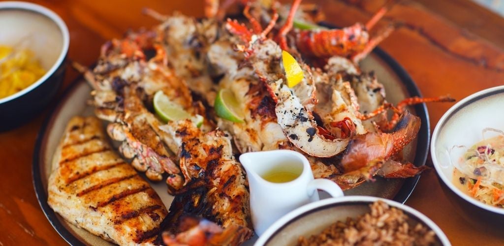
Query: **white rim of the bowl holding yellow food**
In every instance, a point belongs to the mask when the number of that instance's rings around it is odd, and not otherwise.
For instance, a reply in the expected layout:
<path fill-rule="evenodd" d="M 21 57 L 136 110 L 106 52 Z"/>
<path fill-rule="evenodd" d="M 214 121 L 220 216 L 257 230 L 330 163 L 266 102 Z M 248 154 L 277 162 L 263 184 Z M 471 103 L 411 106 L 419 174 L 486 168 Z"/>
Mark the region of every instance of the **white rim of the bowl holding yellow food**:
<path fill-rule="evenodd" d="M 65 22 L 63 20 L 61 20 L 61 18 L 56 13 L 52 12 L 51 10 L 49 10 L 45 7 L 42 7 L 40 5 L 25 3 L 25 2 L 17 2 L 17 1 L 9 1 L 9 2 L 0 3 L 0 10 L 2 10 L 2 9 L 18 9 L 18 10 L 32 11 L 32 12 L 39 13 L 39 14 L 51 19 L 59 27 L 59 30 L 61 31 L 61 36 L 63 37 L 63 47 L 61 48 L 61 52 L 60 52 L 56 62 L 44 74 L 44 76 L 42 76 L 40 79 L 35 81 L 35 83 L 31 84 L 30 86 L 26 87 L 25 89 L 15 93 L 15 94 L 12 94 L 8 97 L 4 97 L 4 98 L 0 99 L 0 103 L 4 103 L 4 102 L 10 101 L 12 99 L 18 98 L 18 97 L 26 94 L 27 92 L 33 90 L 33 88 L 39 86 L 45 80 L 47 80 L 47 78 L 49 78 L 52 74 L 54 74 L 56 69 L 59 67 L 59 65 L 61 65 L 61 63 L 65 59 L 65 56 L 67 55 L 68 47 L 70 44 L 70 35 L 68 32 L 67 25 L 65 24 Z"/>

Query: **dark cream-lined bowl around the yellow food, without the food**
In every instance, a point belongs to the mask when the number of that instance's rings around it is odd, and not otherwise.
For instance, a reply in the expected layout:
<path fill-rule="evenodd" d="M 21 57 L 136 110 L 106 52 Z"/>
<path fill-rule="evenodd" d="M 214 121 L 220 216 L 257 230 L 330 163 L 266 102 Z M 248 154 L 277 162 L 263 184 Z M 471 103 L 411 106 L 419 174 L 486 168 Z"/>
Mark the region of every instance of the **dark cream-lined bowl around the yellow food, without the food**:
<path fill-rule="evenodd" d="M 16 46 L 25 40 L 47 70 L 27 88 L 0 98 L 0 131 L 7 131 L 37 116 L 56 94 L 65 77 L 70 36 L 54 12 L 23 2 L 0 3 L 0 33 L 2 44 Z"/>

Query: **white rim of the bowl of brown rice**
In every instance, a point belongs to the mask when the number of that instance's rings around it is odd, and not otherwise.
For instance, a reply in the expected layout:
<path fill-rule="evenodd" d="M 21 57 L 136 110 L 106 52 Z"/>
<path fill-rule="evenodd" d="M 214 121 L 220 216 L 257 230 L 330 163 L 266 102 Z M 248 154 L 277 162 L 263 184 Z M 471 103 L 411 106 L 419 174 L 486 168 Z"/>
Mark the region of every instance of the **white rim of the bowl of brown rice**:
<path fill-rule="evenodd" d="M 339 203 L 344 203 L 344 202 L 366 202 L 366 203 L 372 203 L 376 201 L 383 201 L 390 206 L 399 208 L 403 211 L 405 211 L 407 214 L 411 214 L 414 217 L 418 218 L 421 220 L 425 225 L 427 225 L 430 229 L 432 229 L 439 240 L 443 243 L 443 245 L 451 245 L 450 241 L 448 240 L 448 237 L 445 235 L 445 233 L 427 216 L 423 215 L 422 213 L 416 211 L 415 209 L 408 207 L 404 204 L 392 201 L 392 200 L 387 200 L 383 198 L 377 198 L 377 197 L 368 197 L 368 196 L 348 196 L 348 197 L 338 197 L 338 198 L 328 198 L 324 200 L 320 200 L 317 202 L 309 203 L 306 204 L 302 207 L 299 207 L 288 214 L 284 215 L 282 218 L 277 220 L 273 225 L 271 225 L 264 233 L 259 237 L 259 239 L 256 241 L 254 244 L 255 246 L 262 246 L 264 245 L 271 236 L 275 234 L 276 231 L 281 229 L 286 223 L 292 221 L 299 215 L 302 215 L 303 213 L 306 213 L 310 210 L 317 209 L 320 207 L 324 207 L 327 205 L 331 204 L 339 204 Z"/>

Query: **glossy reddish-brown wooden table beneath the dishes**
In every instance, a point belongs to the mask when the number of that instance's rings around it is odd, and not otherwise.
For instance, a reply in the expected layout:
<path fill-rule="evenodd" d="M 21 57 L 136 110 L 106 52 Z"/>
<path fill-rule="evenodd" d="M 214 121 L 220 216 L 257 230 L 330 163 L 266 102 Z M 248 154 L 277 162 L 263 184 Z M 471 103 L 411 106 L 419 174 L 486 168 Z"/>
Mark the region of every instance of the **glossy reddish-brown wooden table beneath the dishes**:
<path fill-rule="evenodd" d="M 143 7 L 162 13 L 179 10 L 188 15 L 203 15 L 203 0 L 194 3 L 182 0 L 36 2 L 66 21 L 71 37 L 69 58 L 86 65 L 95 61 L 105 40 L 120 37 L 128 28 L 156 24 L 141 14 Z M 329 22 L 348 26 L 366 21 L 385 2 L 324 0 L 319 4 L 325 13 L 331 13 L 327 15 Z M 407 70 L 423 95 L 450 93 L 462 99 L 476 91 L 501 85 L 504 81 L 504 20 L 467 0 L 419 2 L 406 0 L 394 5 L 380 26 L 390 22 L 403 25 L 380 46 Z M 77 76 L 75 71 L 68 69 L 64 87 Z M 432 129 L 451 105 L 428 105 Z M 32 187 L 34 142 L 48 113 L 46 110 L 29 124 L 0 134 L 0 159 L 3 160 L 0 245 L 66 244 L 46 220 Z M 427 164 L 431 165 L 431 161 Z M 504 244 L 504 234 L 477 228 L 453 209 L 439 188 L 434 170 L 422 174 L 406 204 L 437 223 L 454 245 Z"/>

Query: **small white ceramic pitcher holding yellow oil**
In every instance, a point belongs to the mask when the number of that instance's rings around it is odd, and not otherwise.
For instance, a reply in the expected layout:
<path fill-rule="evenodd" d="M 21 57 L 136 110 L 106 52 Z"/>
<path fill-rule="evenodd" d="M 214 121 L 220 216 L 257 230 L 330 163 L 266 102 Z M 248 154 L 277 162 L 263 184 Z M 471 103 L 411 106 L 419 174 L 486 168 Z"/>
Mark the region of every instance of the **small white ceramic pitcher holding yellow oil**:
<path fill-rule="evenodd" d="M 258 235 L 288 212 L 319 201 L 318 189 L 332 197 L 343 196 L 343 191 L 334 181 L 314 179 L 308 160 L 296 151 L 249 152 L 240 156 L 240 162 L 247 173 L 250 212 Z M 292 181 L 274 183 L 262 177 L 271 170 L 296 172 L 300 175 Z"/>

